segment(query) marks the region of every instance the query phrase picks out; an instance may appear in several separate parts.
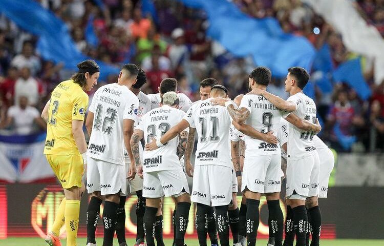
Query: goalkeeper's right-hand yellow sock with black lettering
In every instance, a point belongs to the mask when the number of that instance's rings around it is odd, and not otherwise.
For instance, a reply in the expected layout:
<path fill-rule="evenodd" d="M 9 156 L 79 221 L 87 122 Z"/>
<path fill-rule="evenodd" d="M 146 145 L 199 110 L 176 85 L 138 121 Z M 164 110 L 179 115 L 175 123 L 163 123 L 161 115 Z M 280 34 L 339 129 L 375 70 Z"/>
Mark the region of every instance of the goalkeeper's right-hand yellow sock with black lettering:
<path fill-rule="evenodd" d="M 77 229 L 79 227 L 80 201 L 67 200 L 65 209 L 65 223 L 67 229 L 67 246 L 77 246 Z"/>

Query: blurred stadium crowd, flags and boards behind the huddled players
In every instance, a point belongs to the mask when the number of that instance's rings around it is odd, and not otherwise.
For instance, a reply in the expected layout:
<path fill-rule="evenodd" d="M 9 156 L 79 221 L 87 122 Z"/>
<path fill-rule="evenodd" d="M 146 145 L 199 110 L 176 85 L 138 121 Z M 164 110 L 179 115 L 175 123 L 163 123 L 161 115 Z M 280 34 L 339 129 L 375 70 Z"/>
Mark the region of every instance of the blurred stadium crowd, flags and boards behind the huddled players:
<path fill-rule="evenodd" d="M 172 76 L 193 101 L 199 81 L 210 76 L 232 98 L 245 93 L 257 65 L 272 70 L 268 90 L 287 98 L 287 68 L 305 67 L 311 74 L 305 92 L 323 126 L 319 136 L 336 157 L 329 198 L 320 201 L 322 237 L 384 239 L 381 35 L 381 0 L 0 1 L 0 238 L 43 237 L 52 226 L 63 194 L 42 155 L 39 112 L 76 63 L 91 57 L 101 67 L 94 91 L 132 62 L 147 73 L 145 93 L 157 93 L 161 79 Z M 21 110 L 25 97 L 30 107 Z M 86 202 L 84 196 L 80 237 Z M 165 235 L 172 233 L 173 206 L 164 202 Z M 187 234 L 196 238 L 190 216 Z M 127 235 L 134 223 L 127 216 Z"/>

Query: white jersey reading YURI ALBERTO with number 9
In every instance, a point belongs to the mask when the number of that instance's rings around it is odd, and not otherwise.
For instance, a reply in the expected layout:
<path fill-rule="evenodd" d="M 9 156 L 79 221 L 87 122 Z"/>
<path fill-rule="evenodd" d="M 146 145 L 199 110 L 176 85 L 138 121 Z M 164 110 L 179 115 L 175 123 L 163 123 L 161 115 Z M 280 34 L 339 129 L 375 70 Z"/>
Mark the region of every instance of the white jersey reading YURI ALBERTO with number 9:
<path fill-rule="evenodd" d="M 250 112 L 245 124 L 262 133 L 273 131 L 274 134 L 277 134 L 280 119 L 285 113 L 271 104 L 264 96 L 251 94 L 243 96 L 240 108 L 246 108 Z M 245 146 L 245 156 L 247 157 L 281 153 L 280 145 L 268 144 L 249 136 L 245 137 Z"/>

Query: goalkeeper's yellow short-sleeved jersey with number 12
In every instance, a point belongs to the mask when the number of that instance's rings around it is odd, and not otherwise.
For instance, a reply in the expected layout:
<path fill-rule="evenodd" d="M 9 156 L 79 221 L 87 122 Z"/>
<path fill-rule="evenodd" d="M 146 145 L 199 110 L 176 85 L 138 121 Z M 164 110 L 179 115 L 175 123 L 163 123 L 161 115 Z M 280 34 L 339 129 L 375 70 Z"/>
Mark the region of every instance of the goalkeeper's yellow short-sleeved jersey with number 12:
<path fill-rule="evenodd" d="M 44 154 L 80 155 L 72 135 L 72 120 L 84 120 L 87 107 L 87 93 L 72 79 L 56 86 L 49 104 Z"/>

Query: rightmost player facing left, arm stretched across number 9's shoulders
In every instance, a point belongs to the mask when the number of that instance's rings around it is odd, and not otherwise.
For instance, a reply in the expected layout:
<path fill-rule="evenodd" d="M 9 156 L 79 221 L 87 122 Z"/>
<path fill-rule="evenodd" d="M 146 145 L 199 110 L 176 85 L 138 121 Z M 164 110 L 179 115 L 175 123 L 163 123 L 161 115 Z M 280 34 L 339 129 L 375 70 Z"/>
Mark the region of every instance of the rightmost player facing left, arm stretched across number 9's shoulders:
<path fill-rule="evenodd" d="M 313 145 L 313 136 L 318 132 L 315 127 L 303 131 L 293 125 L 296 119 L 290 118 L 294 112 L 300 119 L 312 122 L 316 120 L 316 105 L 314 101 L 303 93 L 308 83 L 309 74 L 304 68 L 292 67 L 288 69 L 285 80 L 285 90 L 290 97 L 284 100 L 267 91 L 254 89 L 253 93 L 267 98 L 275 107 L 287 111 L 288 124 L 287 144 L 287 199 L 293 217 L 293 228 L 296 234 L 296 245 L 304 246 L 308 216 L 306 211 L 306 198 L 318 195 L 319 158 Z M 320 216 L 319 210 L 316 216 Z M 290 245 L 285 242 L 284 245 Z"/>

